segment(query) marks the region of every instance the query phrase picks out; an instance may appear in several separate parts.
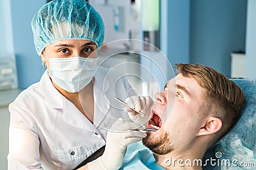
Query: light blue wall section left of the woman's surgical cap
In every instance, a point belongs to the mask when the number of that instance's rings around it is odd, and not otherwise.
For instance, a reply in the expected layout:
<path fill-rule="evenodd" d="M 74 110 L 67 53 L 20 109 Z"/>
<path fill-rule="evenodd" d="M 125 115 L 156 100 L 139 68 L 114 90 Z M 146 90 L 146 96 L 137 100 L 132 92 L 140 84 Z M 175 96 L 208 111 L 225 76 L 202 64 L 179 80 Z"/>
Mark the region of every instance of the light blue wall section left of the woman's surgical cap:
<path fill-rule="evenodd" d="M 36 54 L 33 43 L 31 20 L 36 11 L 46 1 L 11 0 L 13 46 L 16 55 L 19 88 L 26 89 L 40 80 L 44 73 L 40 56 Z"/>

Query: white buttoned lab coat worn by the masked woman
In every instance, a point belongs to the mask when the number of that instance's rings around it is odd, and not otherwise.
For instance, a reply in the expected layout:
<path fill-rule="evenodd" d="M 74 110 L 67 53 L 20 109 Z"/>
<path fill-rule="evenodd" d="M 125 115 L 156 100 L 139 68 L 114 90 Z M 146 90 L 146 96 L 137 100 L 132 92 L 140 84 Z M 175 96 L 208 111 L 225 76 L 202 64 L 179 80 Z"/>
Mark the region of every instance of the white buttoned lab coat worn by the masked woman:
<path fill-rule="evenodd" d="M 8 169 L 74 169 L 105 145 L 113 122 L 128 118 L 122 111 L 124 106 L 113 99 L 117 96 L 124 100 L 130 88 L 127 80 L 118 78 L 120 75 L 113 70 L 97 71 L 91 124 L 54 88 L 45 71 L 38 83 L 24 90 L 9 106 Z"/>

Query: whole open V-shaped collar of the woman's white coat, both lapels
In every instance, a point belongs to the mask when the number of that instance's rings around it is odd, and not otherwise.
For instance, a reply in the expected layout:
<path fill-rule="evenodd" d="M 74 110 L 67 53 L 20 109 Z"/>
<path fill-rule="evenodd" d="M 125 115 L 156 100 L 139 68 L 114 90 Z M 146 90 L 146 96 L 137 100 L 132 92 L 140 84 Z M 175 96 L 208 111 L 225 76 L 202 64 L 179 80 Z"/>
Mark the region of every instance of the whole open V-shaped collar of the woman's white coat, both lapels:
<path fill-rule="evenodd" d="M 93 79 L 93 97 L 94 101 L 94 120 L 95 127 L 102 123 L 102 120 L 108 114 L 110 109 L 108 98 L 105 96 L 109 90 L 109 80 L 105 78 L 104 71 L 97 71 L 95 78 Z M 74 115 L 72 113 L 81 113 L 77 110 L 76 106 L 68 101 L 63 95 L 55 89 L 52 85 L 51 79 L 47 71 L 42 75 L 40 80 L 42 86 L 42 92 L 45 97 L 45 101 L 49 103 L 52 108 L 63 109 L 65 120 L 76 127 L 90 128 L 93 130 L 93 126 L 89 120 L 87 120 L 83 114 Z M 83 121 L 84 119 L 84 121 Z M 78 121 L 79 120 L 79 121 Z M 81 121 L 82 120 L 82 121 Z"/>

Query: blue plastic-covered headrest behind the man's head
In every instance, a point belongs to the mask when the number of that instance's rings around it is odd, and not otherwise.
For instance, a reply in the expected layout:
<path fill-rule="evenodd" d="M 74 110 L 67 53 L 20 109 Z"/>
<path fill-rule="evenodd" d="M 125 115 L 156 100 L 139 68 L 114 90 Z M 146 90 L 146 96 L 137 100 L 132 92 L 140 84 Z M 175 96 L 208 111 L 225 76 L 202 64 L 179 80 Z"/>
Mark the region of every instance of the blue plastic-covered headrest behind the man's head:
<path fill-rule="evenodd" d="M 216 166 L 207 164 L 204 169 L 253 169 L 244 167 L 252 165 L 256 167 L 256 84 L 249 80 L 232 81 L 243 90 L 246 101 L 234 127 L 204 155 L 204 160 L 216 159 Z"/>

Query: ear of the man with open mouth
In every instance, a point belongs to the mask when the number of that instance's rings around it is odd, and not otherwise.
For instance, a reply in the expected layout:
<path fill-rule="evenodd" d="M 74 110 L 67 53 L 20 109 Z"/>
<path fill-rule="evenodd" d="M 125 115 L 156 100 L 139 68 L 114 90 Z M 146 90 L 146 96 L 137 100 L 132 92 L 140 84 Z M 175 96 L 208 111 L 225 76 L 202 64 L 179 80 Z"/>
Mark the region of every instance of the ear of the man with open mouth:
<path fill-rule="evenodd" d="M 207 134 L 214 134 L 218 131 L 220 131 L 222 127 L 222 121 L 220 118 L 216 117 L 209 117 L 205 121 L 205 123 L 200 127 L 197 136 L 203 136 Z"/>

